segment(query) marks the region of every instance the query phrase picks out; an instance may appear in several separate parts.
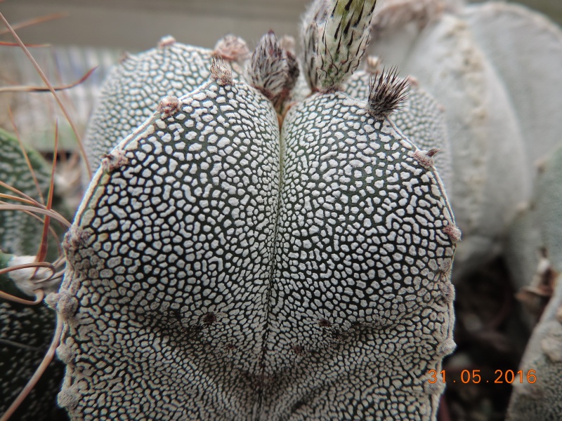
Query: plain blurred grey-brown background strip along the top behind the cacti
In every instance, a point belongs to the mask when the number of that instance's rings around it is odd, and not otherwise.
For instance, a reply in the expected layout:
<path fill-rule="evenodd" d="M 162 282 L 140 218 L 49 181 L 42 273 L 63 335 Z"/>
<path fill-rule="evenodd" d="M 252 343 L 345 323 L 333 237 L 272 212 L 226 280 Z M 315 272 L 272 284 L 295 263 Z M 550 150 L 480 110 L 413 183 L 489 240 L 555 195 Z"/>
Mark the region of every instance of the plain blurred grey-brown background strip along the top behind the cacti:
<path fill-rule="evenodd" d="M 562 1 L 518 0 L 562 23 Z M 20 30 L 26 42 L 117 47 L 142 51 L 173 34 L 186 44 L 211 48 L 235 33 L 250 45 L 268 29 L 296 36 L 307 0 L 5 0 L 11 22 L 55 12 L 68 18 Z"/>

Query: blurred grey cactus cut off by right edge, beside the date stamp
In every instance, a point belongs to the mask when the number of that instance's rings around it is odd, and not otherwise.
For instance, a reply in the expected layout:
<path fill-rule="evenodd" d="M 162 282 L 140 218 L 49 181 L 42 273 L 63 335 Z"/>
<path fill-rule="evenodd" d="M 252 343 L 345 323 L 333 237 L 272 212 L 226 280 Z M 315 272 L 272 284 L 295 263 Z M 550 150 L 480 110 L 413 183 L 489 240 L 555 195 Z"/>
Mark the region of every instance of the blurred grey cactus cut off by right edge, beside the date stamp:
<path fill-rule="evenodd" d="M 529 218 L 538 222 L 535 227 L 540 233 L 533 250 L 534 255 L 543 255 L 542 265 L 537 265 L 537 275 L 542 286 L 552 288 L 553 292 L 521 361 L 523 373 L 533 370 L 536 381 L 514 383 L 508 412 L 508 419 L 513 421 L 530 418 L 555 420 L 562 414 L 561 165 L 562 147 L 558 147 L 542 168 L 535 206 L 528 210 L 531 214 Z M 511 250 L 514 250 L 514 258 L 519 257 L 522 251 L 529 253 L 521 243 L 513 243 Z"/>

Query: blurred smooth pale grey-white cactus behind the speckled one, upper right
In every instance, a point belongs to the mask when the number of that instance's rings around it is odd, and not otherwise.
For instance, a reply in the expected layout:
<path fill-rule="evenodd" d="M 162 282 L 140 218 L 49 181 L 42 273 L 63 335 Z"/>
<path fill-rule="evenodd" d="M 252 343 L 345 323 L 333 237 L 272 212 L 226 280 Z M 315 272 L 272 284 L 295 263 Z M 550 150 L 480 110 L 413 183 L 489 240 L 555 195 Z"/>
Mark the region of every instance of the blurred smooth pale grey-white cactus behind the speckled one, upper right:
<path fill-rule="evenodd" d="M 551 90 L 562 83 L 562 34 L 521 6 L 443 13 L 444 1 L 395 3 L 374 20 L 372 51 L 445 107 L 455 168 L 449 194 L 464 234 L 455 272 L 464 276 L 502 251 L 516 209 L 532 195 L 535 161 L 559 141 L 549 110 L 559 108 Z"/>

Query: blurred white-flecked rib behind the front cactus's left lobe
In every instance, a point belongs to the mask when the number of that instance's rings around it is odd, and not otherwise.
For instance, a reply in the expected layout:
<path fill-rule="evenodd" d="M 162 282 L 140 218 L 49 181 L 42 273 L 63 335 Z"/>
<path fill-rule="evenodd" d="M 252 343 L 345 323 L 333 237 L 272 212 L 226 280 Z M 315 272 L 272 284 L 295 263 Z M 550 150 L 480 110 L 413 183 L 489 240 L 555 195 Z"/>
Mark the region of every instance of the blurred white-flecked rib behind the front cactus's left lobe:
<path fill-rule="evenodd" d="M 104 154 L 152 115 L 161 98 L 179 97 L 201 86 L 209 78 L 213 55 L 166 37 L 157 48 L 127 55 L 112 69 L 84 138 L 93 171 Z"/>

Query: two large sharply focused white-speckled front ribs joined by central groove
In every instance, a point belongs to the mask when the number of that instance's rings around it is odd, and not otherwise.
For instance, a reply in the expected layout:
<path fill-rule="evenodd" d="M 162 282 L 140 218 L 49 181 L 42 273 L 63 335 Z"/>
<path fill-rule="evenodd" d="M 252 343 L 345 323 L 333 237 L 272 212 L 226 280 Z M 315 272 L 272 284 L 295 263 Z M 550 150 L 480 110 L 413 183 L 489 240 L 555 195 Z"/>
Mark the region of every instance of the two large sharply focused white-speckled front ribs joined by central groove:
<path fill-rule="evenodd" d="M 249 83 L 209 62 L 209 79 L 155 106 L 86 192 L 49 298 L 73 419 L 436 418 L 443 385 L 429 370 L 455 347 L 459 239 L 438 173 L 339 77 L 280 128 L 292 56 L 273 34 L 261 42 L 272 47 L 256 48 L 266 61 L 247 66 Z"/>

